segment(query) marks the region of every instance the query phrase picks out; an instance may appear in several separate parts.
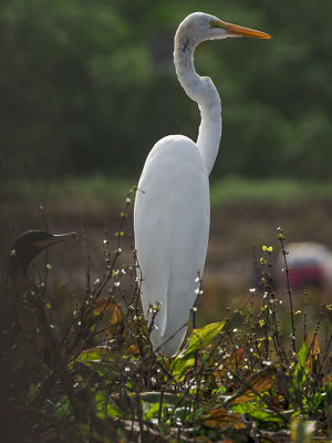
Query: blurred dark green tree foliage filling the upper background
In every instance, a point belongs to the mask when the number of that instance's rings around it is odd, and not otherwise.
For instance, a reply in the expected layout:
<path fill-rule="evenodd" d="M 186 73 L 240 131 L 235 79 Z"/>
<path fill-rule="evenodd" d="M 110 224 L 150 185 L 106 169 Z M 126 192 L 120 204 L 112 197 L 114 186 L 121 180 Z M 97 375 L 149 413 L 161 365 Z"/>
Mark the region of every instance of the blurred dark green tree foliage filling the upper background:
<path fill-rule="evenodd" d="M 330 0 L 3 0 L 4 175 L 137 177 L 158 138 L 195 138 L 199 113 L 177 83 L 172 52 L 178 23 L 196 10 L 274 37 L 206 42 L 196 52 L 197 71 L 222 100 L 214 176 L 329 178 Z"/>

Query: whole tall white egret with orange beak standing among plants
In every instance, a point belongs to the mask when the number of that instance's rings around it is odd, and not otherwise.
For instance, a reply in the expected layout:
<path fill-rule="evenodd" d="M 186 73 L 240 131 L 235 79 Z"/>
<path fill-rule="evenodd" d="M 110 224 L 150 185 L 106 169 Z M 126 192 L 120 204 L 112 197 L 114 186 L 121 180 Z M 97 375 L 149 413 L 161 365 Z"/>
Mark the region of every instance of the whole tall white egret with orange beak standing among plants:
<path fill-rule="evenodd" d="M 209 174 L 219 151 L 221 103 L 212 81 L 194 66 L 195 48 L 227 37 L 270 39 L 264 32 L 194 12 L 175 34 L 174 63 L 187 95 L 199 107 L 197 142 L 184 135 L 159 140 L 148 154 L 134 209 L 135 249 L 141 268 L 141 299 L 149 321 L 159 303 L 151 341 L 166 357 L 175 356 L 186 334 L 199 291 L 210 224 Z"/>

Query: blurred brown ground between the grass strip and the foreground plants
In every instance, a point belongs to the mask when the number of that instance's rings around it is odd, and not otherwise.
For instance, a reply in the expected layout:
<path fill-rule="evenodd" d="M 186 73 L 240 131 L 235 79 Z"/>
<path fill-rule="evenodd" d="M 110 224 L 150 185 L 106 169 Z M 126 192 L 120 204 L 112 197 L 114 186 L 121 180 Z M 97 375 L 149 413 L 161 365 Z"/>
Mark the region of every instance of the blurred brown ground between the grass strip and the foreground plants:
<path fill-rule="evenodd" d="M 13 204 L 11 213 L 2 212 L 0 223 L 2 257 L 6 257 L 15 234 L 31 228 L 43 228 L 44 220 L 38 207 Z M 53 281 L 69 281 L 82 285 L 87 269 L 86 245 L 91 256 L 92 279 L 104 270 L 103 239 L 110 237 L 111 250 L 116 248 L 114 233 L 118 230 L 121 209 L 110 213 L 95 207 L 84 207 L 82 203 L 66 203 L 64 208 L 46 204 L 44 217 L 51 233 L 85 231 L 87 241 L 79 240 L 49 251 Z M 332 249 L 332 203 L 297 203 L 287 206 L 268 204 L 234 204 L 216 208 L 211 213 L 210 241 L 205 269 L 205 282 L 238 291 L 248 290 L 252 284 L 253 257 L 261 256 L 262 245 L 273 245 L 273 254 L 280 250 L 277 227 L 284 228 L 291 241 L 314 240 Z M 107 231 L 107 234 L 105 233 Z M 124 250 L 118 265 L 131 264 L 132 219 L 126 222 L 122 239 Z M 44 258 L 37 261 L 43 264 Z M 3 264 L 3 260 L 2 260 Z"/>

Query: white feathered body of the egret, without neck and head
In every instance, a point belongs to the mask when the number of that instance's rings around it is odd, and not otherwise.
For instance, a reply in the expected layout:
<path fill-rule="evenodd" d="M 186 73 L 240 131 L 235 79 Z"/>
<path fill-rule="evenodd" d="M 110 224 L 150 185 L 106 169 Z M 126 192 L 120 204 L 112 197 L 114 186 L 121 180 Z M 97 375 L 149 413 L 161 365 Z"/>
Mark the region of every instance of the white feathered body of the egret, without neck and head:
<path fill-rule="evenodd" d="M 177 352 L 187 330 L 204 270 L 209 212 L 208 177 L 197 145 L 181 135 L 160 140 L 138 183 L 134 223 L 143 311 L 147 317 L 149 305 L 160 303 L 151 339 L 167 356 Z"/>

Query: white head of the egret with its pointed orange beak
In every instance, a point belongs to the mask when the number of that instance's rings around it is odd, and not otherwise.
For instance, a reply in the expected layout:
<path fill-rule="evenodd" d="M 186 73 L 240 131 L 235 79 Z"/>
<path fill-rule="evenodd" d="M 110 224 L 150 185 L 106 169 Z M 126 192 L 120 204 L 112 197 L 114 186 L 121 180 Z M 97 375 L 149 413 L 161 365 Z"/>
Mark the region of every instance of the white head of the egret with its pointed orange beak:
<path fill-rule="evenodd" d="M 205 40 L 226 39 L 227 37 L 271 39 L 271 35 L 266 32 L 227 23 L 218 17 L 204 12 L 194 12 L 180 23 L 175 40 L 185 49 L 193 50 Z"/>

